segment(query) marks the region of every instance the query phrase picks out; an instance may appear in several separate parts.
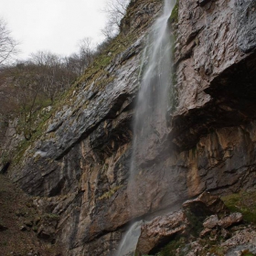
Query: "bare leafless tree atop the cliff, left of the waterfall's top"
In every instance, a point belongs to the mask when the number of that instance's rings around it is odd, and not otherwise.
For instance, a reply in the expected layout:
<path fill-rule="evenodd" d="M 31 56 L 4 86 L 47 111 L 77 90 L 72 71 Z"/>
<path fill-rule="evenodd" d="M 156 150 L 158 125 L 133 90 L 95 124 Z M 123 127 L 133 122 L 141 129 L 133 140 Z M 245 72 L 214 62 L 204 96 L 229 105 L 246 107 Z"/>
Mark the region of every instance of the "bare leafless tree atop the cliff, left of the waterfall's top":
<path fill-rule="evenodd" d="M 101 30 L 105 37 L 112 38 L 120 31 L 121 20 L 129 3 L 130 0 L 107 0 L 102 10 L 108 19 L 106 26 Z"/>

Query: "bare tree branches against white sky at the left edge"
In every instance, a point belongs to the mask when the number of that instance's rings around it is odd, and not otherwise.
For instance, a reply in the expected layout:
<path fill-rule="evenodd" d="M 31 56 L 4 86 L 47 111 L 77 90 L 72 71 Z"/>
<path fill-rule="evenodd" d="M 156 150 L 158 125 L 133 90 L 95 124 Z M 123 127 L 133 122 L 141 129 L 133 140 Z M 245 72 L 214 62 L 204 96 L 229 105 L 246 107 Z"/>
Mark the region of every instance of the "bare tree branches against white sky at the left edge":
<path fill-rule="evenodd" d="M 16 40 L 11 37 L 3 19 L 0 19 L 0 67 L 16 54 Z"/>

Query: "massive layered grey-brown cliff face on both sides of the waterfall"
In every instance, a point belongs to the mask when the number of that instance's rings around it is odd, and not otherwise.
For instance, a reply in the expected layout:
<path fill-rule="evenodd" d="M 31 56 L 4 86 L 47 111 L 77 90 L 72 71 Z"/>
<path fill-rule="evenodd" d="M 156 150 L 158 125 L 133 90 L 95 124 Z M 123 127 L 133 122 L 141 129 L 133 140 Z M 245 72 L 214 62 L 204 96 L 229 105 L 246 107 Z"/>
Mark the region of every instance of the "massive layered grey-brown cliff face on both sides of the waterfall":
<path fill-rule="evenodd" d="M 170 132 L 141 161 L 140 194 L 130 208 L 138 70 L 145 30 L 161 4 L 131 2 L 122 26 L 139 31 L 136 41 L 101 76 L 80 80 L 9 173 L 40 208 L 60 216 L 64 255 L 112 255 L 131 219 L 162 215 L 205 190 L 255 186 L 255 1 L 180 0 L 176 112 L 167 116 Z"/>

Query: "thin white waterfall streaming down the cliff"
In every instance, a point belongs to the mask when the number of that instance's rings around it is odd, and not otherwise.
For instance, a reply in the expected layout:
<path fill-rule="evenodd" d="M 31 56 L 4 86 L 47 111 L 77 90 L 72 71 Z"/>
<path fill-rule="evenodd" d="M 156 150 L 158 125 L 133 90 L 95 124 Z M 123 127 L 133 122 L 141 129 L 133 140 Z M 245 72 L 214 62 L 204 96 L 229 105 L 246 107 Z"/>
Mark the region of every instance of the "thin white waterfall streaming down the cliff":
<path fill-rule="evenodd" d="M 141 88 L 133 120 L 133 154 L 127 188 L 134 217 L 139 217 L 136 214 L 140 214 L 138 198 L 142 193 L 140 187 L 143 181 L 138 178 L 140 164 L 151 161 L 151 157 L 157 155 L 155 145 L 161 144 L 167 130 L 165 114 L 172 93 L 172 40 L 168 19 L 175 5 L 176 0 L 165 0 L 163 15 L 155 21 L 144 49 Z M 139 221 L 131 225 L 119 245 L 116 256 L 133 255 L 141 224 L 142 221 Z"/>

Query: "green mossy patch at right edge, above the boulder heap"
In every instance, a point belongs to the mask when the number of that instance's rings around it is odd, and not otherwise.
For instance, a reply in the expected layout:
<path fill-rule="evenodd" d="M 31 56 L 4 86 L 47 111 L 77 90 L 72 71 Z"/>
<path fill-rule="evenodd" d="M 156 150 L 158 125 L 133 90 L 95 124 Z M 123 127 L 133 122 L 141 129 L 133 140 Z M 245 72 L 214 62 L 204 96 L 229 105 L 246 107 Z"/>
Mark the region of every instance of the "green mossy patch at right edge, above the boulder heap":
<path fill-rule="evenodd" d="M 230 211 L 239 211 L 246 222 L 256 224 L 256 191 L 241 191 L 221 199 Z"/>

